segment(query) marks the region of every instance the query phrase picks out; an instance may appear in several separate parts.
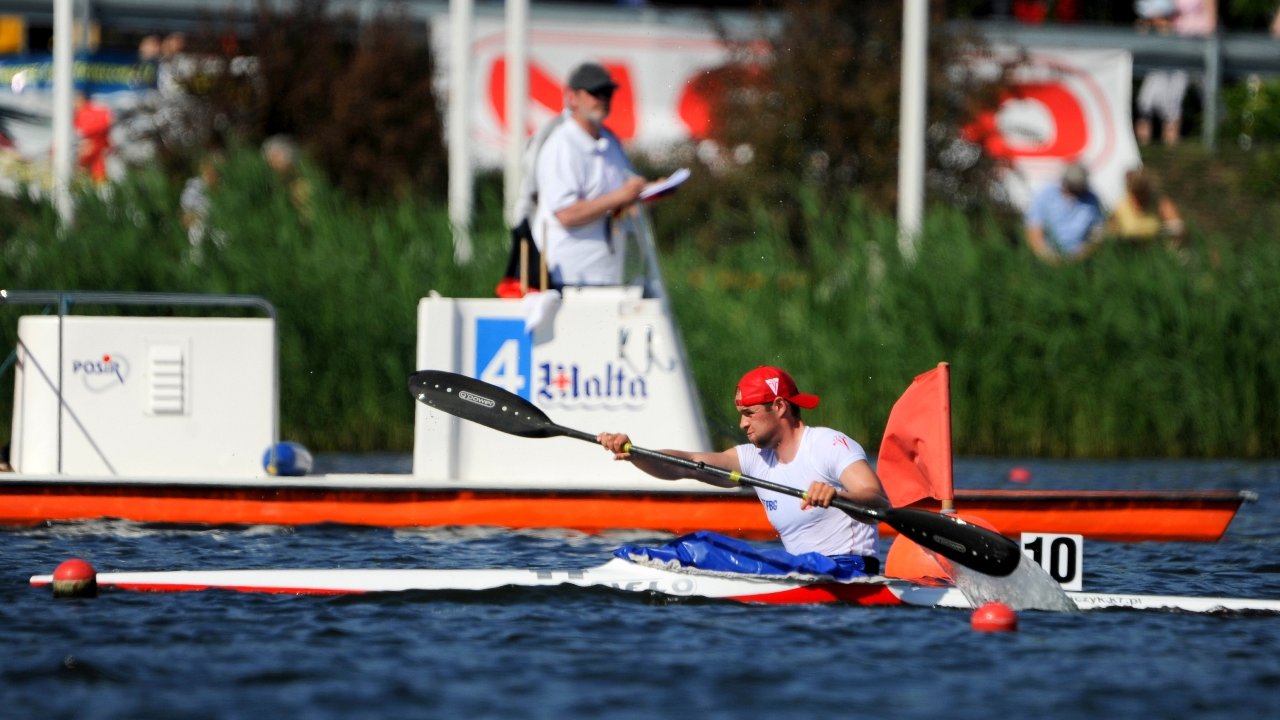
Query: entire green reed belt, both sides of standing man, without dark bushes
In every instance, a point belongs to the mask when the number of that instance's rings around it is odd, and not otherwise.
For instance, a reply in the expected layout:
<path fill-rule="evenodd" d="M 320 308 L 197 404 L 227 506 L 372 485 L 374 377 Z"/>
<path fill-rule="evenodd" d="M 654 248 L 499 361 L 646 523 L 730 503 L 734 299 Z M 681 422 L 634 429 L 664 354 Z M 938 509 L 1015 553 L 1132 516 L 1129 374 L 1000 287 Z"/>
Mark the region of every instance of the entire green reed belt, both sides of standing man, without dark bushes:
<path fill-rule="evenodd" d="M 416 302 L 431 290 L 492 296 L 508 243 L 494 193 L 481 192 L 475 261 L 457 265 L 443 208 L 357 205 L 308 169 L 298 213 L 252 151 L 232 152 L 221 178 L 210 227 L 225 247 L 206 241 L 198 261 L 180 188 L 155 172 L 109 199 L 82 195 L 64 231 L 47 205 L 0 201 L 4 284 L 261 295 L 279 310 L 284 437 L 407 450 Z M 685 211 L 678 197 L 657 210 L 668 223 Z M 796 204 L 808 252 L 767 220 L 714 261 L 667 238 L 667 284 L 717 442 L 736 439 L 732 383 L 756 364 L 791 369 L 824 397 L 810 420 L 874 447 L 911 378 L 948 361 L 961 454 L 1280 454 L 1280 247 L 1265 218 L 1230 242 L 1193 222 L 1180 254 L 1110 247 L 1047 266 L 998 218 L 934 208 L 909 264 L 890 217 L 856 200 Z M 684 215 L 686 228 L 696 220 Z M 4 309 L 8 347 L 29 311 Z M 4 424 L 10 400 L 0 392 Z"/>

